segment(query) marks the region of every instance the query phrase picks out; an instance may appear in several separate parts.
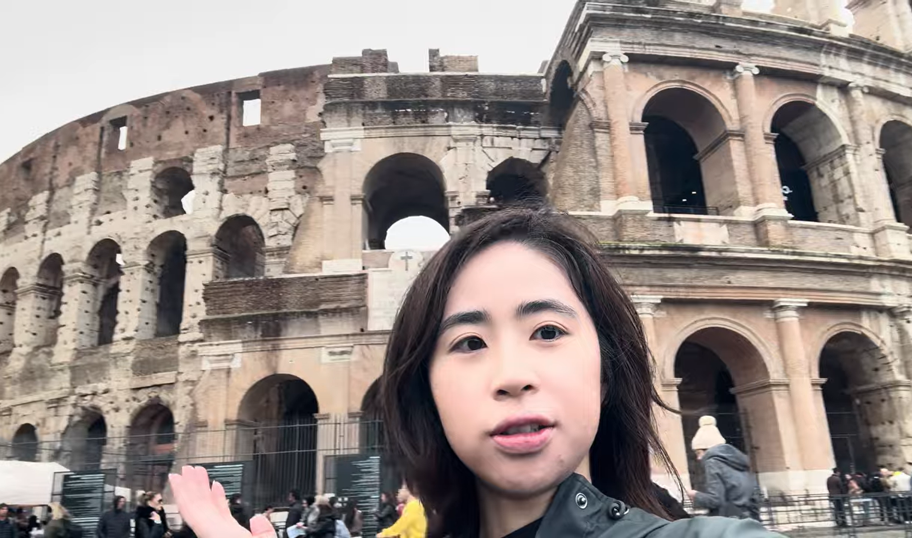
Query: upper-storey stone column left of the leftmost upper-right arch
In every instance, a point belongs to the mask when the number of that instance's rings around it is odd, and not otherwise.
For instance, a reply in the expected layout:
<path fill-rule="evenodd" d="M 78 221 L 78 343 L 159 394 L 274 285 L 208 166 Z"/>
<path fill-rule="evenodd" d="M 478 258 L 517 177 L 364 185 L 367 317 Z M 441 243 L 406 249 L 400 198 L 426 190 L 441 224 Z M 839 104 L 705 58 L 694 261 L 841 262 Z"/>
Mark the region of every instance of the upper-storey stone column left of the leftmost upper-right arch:
<path fill-rule="evenodd" d="M 606 52 L 602 57 L 602 76 L 605 84 L 605 105 L 608 116 L 608 132 L 611 137 L 611 162 L 616 201 L 602 201 L 602 209 L 613 212 L 617 209 L 652 211 L 649 202 L 649 181 L 647 171 L 635 171 L 630 152 L 630 110 L 627 105 L 627 83 L 624 64 L 627 55 L 619 48 Z"/>

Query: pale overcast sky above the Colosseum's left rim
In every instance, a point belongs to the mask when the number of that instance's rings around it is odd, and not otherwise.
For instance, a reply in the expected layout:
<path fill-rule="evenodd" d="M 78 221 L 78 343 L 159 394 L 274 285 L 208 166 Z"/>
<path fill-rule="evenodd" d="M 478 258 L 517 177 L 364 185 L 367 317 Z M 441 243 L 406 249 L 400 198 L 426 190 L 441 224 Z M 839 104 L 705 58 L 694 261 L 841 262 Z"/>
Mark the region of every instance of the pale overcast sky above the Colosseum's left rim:
<path fill-rule="evenodd" d="M 0 161 L 100 109 L 178 88 L 428 49 L 482 71 L 534 73 L 574 0 L 0 0 Z"/>

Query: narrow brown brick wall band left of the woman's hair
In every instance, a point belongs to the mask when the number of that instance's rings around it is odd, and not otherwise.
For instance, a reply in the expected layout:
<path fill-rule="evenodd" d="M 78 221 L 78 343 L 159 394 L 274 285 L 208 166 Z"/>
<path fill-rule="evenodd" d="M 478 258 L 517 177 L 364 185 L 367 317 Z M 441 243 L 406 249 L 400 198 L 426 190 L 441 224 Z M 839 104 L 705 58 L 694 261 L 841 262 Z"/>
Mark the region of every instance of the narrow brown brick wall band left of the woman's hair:
<path fill-rule="evenodd" d="M 306 312 L 365 306 L 365 274 L 214 281 L 203 290 L 207 316 Z"/>

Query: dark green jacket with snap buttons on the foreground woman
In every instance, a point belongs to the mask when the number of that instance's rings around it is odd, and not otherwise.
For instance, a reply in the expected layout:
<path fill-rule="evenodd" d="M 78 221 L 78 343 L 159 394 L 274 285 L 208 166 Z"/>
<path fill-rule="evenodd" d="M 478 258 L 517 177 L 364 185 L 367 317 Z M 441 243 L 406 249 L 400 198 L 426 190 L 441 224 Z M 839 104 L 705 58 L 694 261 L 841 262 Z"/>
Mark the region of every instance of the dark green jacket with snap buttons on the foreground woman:
<path fill-rule="evenodd" d="M 782 538 L 759 522 L 695 517 L 668 522 L 606 497 L 578 474 L 557 492 L 536 534 L 538 538 Z"/>

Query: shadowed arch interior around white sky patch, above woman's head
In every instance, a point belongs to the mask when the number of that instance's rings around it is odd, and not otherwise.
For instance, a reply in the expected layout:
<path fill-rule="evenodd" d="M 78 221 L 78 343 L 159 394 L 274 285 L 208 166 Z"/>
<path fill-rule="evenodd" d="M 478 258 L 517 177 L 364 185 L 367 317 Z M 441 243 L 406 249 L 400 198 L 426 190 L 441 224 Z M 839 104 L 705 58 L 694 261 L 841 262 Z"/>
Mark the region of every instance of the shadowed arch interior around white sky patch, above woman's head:
<path fill-rule="evenodd" d="M 427 157 L 398 153 L 380 160 L 364 181 L 368 249 L 385 249 L 389 227 L 406 217 L 428 217 L 449 232 L 445 189 L 443 173 Z"/>

